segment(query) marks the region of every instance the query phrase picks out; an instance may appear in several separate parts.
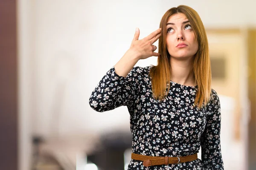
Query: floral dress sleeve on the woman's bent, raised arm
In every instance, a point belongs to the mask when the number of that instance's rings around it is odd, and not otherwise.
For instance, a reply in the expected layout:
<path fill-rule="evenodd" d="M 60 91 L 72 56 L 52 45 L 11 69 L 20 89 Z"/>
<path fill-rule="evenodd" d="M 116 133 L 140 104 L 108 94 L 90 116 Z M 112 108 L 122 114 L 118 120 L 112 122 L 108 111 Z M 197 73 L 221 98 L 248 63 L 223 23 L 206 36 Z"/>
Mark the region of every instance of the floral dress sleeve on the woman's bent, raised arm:
<path fill-rule="evenodd" d="M 133 67 L 126 77 L 122 77 L 116 74 L 113 66 L 93 90 L 89 99 L 90 107 L 104 112 L 122 105 L 133 105 L 140 88 L 141 72 L 139 66 Z"/>

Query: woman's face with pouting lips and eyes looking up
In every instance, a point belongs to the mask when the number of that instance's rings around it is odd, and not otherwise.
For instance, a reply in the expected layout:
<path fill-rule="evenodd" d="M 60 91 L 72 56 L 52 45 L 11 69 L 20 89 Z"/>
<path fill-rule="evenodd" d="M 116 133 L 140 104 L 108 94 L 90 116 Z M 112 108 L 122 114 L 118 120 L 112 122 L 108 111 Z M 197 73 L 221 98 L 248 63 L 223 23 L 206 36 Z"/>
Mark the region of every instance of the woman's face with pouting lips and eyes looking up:
<path fill-rule="evenodd" d="M 169 17 L 166 29 L 166 45 L 171 57 L 187 59 L 195 55 L 198 41 L 185 14 L 177 13 Z"/>

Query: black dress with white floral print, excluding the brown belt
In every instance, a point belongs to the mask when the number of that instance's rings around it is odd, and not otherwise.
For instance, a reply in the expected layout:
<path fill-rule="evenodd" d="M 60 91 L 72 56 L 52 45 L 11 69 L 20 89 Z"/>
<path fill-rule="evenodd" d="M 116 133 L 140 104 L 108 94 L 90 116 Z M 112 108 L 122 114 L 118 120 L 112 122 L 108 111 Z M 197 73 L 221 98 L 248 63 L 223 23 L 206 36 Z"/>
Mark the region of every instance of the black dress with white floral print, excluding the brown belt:
<path fill-rule="evenodd" d="M 221 108 L 212 89 L 207 107 L 193 106 L 197 86 L 170 81 L 168 96 L 160 102 L 151 91 L 147 67 L 133 67 L 127 77 L 116 74 L 114 66 L 93 90 L 89 104 L 98 112 L 127 106 L 130 113 L 133 153 L 147 156 L 187 156 L 198 153 L 194 161 L 144 167 L 131 159 L 128 170 L 224 170 L 221 156 Z M 166 92 L 167 93 L 167 92 Z"/>

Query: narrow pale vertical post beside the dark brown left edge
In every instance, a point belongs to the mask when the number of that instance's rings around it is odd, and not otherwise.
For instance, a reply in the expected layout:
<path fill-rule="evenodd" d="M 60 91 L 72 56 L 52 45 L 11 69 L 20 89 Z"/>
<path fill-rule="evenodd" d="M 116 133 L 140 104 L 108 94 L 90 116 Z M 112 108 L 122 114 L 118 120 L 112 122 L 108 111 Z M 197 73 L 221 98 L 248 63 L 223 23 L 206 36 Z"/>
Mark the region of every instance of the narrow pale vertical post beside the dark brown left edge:
<path fill-rule="evenodd" d="M 18 51 L 18 167 L 29 170 L 32 164 L 32 124 L 35 111 L 35 46 L 34 1 L 18 0 L 17 51 Z"/>

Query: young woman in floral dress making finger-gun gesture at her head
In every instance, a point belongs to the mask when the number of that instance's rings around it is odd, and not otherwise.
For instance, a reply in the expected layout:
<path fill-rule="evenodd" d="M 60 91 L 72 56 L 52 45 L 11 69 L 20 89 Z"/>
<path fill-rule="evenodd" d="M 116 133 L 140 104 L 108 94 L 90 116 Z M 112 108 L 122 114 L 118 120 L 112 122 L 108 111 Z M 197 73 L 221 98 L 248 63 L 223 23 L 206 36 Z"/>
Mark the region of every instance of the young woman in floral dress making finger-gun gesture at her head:
<path fill-rule="evenodd" d="M 98 112 L 127 106 L 133 139 L 128 170 L 224 170 L 220 102 L 211 89 L 207 35 L 198 13 L 171 8 L 159 29 L 141 40 L 139 34 L 136 29 L 131 47 L 89 99 Z M 156 66 L 134 67 L 151 56 L 158 56 Z"/>

